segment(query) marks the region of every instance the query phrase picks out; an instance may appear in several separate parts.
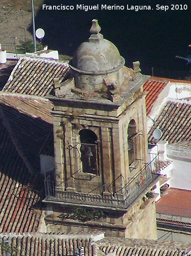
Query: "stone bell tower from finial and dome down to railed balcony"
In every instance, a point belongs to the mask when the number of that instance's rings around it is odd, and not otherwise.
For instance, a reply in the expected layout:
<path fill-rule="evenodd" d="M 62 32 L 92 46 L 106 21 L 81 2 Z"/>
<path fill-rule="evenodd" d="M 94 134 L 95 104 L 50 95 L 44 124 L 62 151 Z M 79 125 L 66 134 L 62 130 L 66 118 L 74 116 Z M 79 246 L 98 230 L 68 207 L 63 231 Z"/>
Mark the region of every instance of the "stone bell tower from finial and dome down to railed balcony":
<path fill-rule="evenodd" d="M 89 41 L 69 63 L 71 78 L 49 97 L 56 168 L 55 180 L 45 180 L 44 201 L 115 212 L 124 226 L 129 207 L 153 186 L 159 169 L 147 156 L 142 90 L 147 78 L 139 62 L 134 69 L 124 66 L 117 47 L 100 30 L 94 19 Z"/>

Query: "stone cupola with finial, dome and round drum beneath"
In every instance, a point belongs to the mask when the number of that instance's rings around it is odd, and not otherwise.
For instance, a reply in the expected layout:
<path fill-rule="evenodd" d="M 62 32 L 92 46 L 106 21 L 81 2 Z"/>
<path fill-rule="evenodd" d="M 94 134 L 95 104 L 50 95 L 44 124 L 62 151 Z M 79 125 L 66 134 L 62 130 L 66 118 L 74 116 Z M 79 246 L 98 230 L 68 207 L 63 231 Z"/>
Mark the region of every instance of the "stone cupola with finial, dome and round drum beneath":
<path fill-rule="evenodd" d="M 85 91 L 99 91 L 105 78 L 114 86 L 123 84 L 125 59 L 112 42 L 103 38 L 100 30 L 97 20 L 93 19 L 89 42 L 79 45 L 70 62 L 75 86 Z"/>

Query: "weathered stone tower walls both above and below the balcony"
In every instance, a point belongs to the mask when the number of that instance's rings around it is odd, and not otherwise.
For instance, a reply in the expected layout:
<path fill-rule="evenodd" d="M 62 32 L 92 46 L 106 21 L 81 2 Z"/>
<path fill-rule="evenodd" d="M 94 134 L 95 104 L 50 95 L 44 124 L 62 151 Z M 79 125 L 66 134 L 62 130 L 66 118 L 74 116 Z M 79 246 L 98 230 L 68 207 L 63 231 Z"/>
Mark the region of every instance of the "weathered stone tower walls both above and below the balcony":
<path fill-rule="evenodd" d="M 99 107 L 96 109 L 94 103 L 88 105 L 91 108 L 87 108 L 85 104 L 86 102 L 84 102 L 84 108 L 79 107 L 81 102 L 76 102 L 75 107 L 67 107 L 63 100 L 63 102 L 60 101 L 60 105 L 54 106 L 57 182 L 60 184 L 67 180 L 68 187 L 65 188 L 66 191 L 75 190 L 89 193 L 94 190 L 95 194 L 99 193 L 98 190 L 95 190 L 96 186 L 106 184 L 104 191 L 106 195 L 107 193 L 111 195 L 111 192 L 113 192 L 112 186 L 108 186 L 113 183 L 116 191 L 120 194 L 120 188 L 128 183 L 129 178 L 141 169 L 143 162 L 147 162 L 144 93 L 140 88 L 131 99 L 124 101 L 115 110 L 110 110 L 111 106 L 109 105 L 105 105 L 105 110 L 100 110 Z M 137 141 L 136 145 L 137 157 L 140 157 L 139 166 L 132 172 L 129 171 L 128 159 L 128 126 L 131 120 L 136 123 L 136 133 L 141 134 L 141 139 Z M 99 140 L 100 175 L 83 173 L 79 151 L 79 131 L 82 129 L 93 131 Z M 60 185 L 60 188 L 62 189 L 62 185 Z M 94 232 L 101 230 L 108 236 L 156 239 L 155 204 L 153 199 L 146 199 L 144 202 L 142 200 L 143 196 L 144 194 L 135 200 L 127 213 L 121 212 L 119 214 L 117 211 L 110 211 L 107 218 L 99 221 L 81 223 L 74 220 L 60 219 L 59 217 L 53 217 L 52 219 L 47 217 L 47 232 L 54 230 L 62 232 Z M 54 211 L 64 212 L 64 209 L 58 209 L 57 207 L 53 207 Z M 90 207 L 94 208 L 93 203 Z M 56 208 L 57 210 L 55 210 Z"/>

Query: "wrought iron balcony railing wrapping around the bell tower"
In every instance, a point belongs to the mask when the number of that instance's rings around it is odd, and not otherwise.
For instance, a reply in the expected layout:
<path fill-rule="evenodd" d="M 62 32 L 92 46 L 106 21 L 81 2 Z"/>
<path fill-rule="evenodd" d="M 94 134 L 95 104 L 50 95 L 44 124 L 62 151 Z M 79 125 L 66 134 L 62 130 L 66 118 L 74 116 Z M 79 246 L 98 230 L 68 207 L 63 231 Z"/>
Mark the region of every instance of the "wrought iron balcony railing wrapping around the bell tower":
<path fill-rule="evenodd" d="M 159 174 L 159 156 L 158 154 L 152 154 L 151 161 L 145 164 L 134 177 L 129 178 L 128 183 L 121 188 L 114 186 L 114 183 L 105 183 L 101 186 L 91 186 L 91 190 L 84 193 L 87 185 L 83 187 L 81 184 L 81 192 L 66 191 L 66 187 L 74 187 L 74 184 L 69 184 L 68 182 L 58 184 L 56 181 L 51 181 L 50 177 L 47 177 L 45 179 L 46 198 L 44 201 L 73 205 L 80 204 L 83 206 L 96 205 L 102 209 L 109 208 L 125 211 Z M 107 193 L 105 193 L 106 190 Z"/>

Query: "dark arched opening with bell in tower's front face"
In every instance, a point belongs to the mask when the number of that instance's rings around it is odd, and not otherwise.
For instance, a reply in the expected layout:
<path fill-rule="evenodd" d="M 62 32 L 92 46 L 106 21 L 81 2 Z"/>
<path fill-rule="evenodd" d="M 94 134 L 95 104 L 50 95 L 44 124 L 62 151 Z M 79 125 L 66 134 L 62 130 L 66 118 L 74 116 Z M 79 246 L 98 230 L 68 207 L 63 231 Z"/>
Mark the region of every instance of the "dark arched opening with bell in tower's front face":
<path fill-rule="evenodd" d="M 99 151 L 97 135 L 89 129 L 79 131 L 80 136 L 80 153 L 82 170 L 86 173 L 99 175 Z"/>

